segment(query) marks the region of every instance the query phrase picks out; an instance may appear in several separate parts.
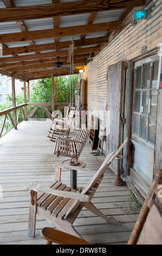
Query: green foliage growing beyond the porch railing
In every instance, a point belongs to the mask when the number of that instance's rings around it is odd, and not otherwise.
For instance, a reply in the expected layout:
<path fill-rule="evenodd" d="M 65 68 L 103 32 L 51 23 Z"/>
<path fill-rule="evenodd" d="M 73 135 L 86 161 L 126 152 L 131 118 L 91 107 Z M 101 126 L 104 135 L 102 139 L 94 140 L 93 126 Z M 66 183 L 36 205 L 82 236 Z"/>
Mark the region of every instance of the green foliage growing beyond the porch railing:
<path fill-rule="evenodd" d="M 74 98 L 74 90 L 75 90 L 75 83 L 78 81 L 78 75 L 74 75 L 73 79 L 70 76 L 60 76 L 54 77 L 54 102 L 70 102 L 70 96 L 75 101 Z M 70 87 L 70 84 L 73 86 Z M 71 88 L 71 93 L 70 93 Z M 27 92 L 27 101 L 28 101 L 28 92 Z M 51 78 L 41 78 L 36 82 L 33 81 L 30 88 L 30 102 L 51 102 Z M 16 93 L 16 106 L 21 105 L 24 103 L 24 92 Z M 12 95 L 8 95 L 7 100 L 2 105 L 0 104 L 0 111 L 12 107 Z M 34 106 L 30 106 L 30 112 L 33 110 Z M 51 107 L 48 107 L 48 110 L 51 112 Z M 27 107 L 28 113 L 28 107 Z M 10 112 L 11 117 L 13 119 L 13 113 Z M 18 109 L 17 109 L 18 115 Z M 3 124 L 4 115 L 0 117 L 0 130 Z M 46 113 L 43 111 L 41 107 L 37 109 L 33 118 L 47 118 Z M 22 111 L 20 112 L 20 118 L 18 119 L 18 123 L 21 123 L 24 120 L 24 116 Z M 7 119 L 5 121 L 4 131 L 5 133 L 9 132 L 13 129 L 13 125 L 9 116 L 7 115 Z"/>

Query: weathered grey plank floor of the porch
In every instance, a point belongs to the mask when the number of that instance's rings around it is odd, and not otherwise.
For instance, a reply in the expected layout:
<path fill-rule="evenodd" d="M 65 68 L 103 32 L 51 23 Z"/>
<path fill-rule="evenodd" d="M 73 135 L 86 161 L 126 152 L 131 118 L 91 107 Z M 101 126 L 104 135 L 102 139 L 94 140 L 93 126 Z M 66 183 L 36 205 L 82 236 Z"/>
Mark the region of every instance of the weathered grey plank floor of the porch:
<path fill-rule="evenodd" d="M 41 230 L 53 227 L 37 217 L 36 237 L 28 236 L 29 182 L 49 184 L 54 179 L 54 164 L 66 160 L 53 154 L 54 142 L 47 137 L 50 121 L 23 121 L 18 130 L 11 130 L 0 140 L 0 244 L 38 245 L 44 244 Z M 82 151 L 80 160 L 86 168 L 98 170 L 105 156 L 94 156 L 89 142 Z M 83 187 L 90 176 L 78 173 L 78 186 Z M 135 204 L 129 196 L 126 185 L 115 186 L 115 174 L 106 170 L 104 178 L 95 193 L 93 203 L 105 215 L 113 215 L 121 221 L 120 227 L 107 224 L 101 217 L 83 209 L 74 222 L 76 230 L 92 244 L 126 244 L 137 220 Z M 69 173 L 63 172 L 62 181 L 69 184 Z"/>

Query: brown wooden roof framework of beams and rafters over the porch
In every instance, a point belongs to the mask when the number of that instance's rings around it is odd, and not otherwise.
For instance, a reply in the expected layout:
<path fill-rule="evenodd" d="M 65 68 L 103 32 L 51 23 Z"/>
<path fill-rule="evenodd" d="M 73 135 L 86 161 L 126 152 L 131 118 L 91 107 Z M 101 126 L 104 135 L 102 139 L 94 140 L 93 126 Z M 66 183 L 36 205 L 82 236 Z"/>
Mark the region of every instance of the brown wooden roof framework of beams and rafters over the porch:
<path fill-rule="evenodd" d="M 63 36 L 71 37 L 79 35 L 79 40 L 74 40 L 74 67 L 83 68 L 89 57 L 96 56 L 107 44 L 109 44 L 122 29 L 131 23 L 130 12 L 138 8 L 144 8 L 150 0 L 92 0 L 63 2 L 52 0 L 52 4 L 30 5 L 28 7 L 14 7 L 11 0 L 3 0 L 7 8 L 0 9 L 1 21 L 15 21 L 21 29 L 20 33 L 0 34 L 0 73 L 7 76 L 15 76 L 25 81 L 38 79 L 40 77 L 51 77 L 69 75 L 70 71 L 56 69 L 50 71 L 56 57 L 63 65 L 69 66 L 69 57 L 72 54 L 72 41 L 59 41 Z M 145 5 L 146 3 L 146 5 Z M 119 10 L 122 15 L 118 21 L 96 23 L 96 15 L 101 11 Z M 30 13 L 29 13 L 29 12 Z M 59 26 L 60 16 L 89 13 L 86 25 L 76 25 L 71 27 Z M 109 12 L 108 12 L 109 13 Z M 52 29 L 38 31 L 27 31 L 23 20 L 33 20 L 46 17 L 53 17 Z M 27 19 L 26 19 L 27 18 Z M 41 33 L 40 33 L 41 32 Z M 105 37 L 95 37 L 95 33 L 105 32 Z M 87 34 L 94 34 L 93 38 L 87 39 Z M 96 34 L 98 36 L 98 34 Z M 54 39 L 54 43 L 46 43 L 44 39 Z M 34 44 L 35 40 L 44 40 L 44 44 Z M 68 39 L 69 40 L 69 39 Z M 15 42 L 29 42 L 29 46 L 15 47 Z M 9 48 L 6 44 L 10 44 Z M 14 47 L 12 47 L 12 44 Z M 97 45 L 92 47 L 92 45 Z M 87 46 L 87 47 L 86 47 Z M 63 50 L 67 48 L 67 50 Z M 54 51 L 51 51 L 54 50 Z M 40 53 L 43 52 L 44 53 Z M 49 52 L 50 51 L 50 52 Z M 24 53 L 24 54 L 23 54 Z M 28 53 L 28 54 L 25 54 Z M 31 54 L 30 54 L 31 53 Z M 23 55 L 22 55 L 23 54 Z M 6 57 L 5 57 L 6 56 Z M 11 56 L 11 57 L 9 57 Z M 76 70 L 78 72 L 78 70 Z"/>

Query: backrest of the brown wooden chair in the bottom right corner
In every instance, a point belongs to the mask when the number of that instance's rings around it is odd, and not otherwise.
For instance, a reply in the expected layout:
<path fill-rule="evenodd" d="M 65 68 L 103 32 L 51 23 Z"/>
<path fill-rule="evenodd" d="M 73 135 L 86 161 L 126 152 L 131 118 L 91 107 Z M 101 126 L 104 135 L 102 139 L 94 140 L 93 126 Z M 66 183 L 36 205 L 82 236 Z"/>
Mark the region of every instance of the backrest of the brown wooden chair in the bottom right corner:
<path fill-rule="evenodd" d="M 162 169 L 153 179 L 127 244 L 162 245 Z"/>

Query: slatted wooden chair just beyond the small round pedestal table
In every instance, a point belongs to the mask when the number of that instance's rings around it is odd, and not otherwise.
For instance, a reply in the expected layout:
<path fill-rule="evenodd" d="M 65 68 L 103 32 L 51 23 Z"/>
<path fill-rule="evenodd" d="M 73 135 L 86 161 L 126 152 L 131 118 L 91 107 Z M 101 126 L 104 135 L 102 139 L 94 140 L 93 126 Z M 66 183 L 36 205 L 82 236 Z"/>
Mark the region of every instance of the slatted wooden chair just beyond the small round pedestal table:
<path fill-rule="evenodd" d="M 83 150 L 83 147 L 85 147 L 88 137 L 89 131 L 85 126 L 81 125 L 74 139 L 56 138 L 54 154 L 56 154 L 56 156 L 76 158 L 77 161 Z"/>

